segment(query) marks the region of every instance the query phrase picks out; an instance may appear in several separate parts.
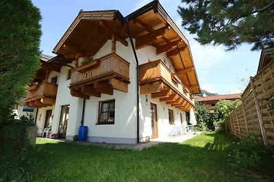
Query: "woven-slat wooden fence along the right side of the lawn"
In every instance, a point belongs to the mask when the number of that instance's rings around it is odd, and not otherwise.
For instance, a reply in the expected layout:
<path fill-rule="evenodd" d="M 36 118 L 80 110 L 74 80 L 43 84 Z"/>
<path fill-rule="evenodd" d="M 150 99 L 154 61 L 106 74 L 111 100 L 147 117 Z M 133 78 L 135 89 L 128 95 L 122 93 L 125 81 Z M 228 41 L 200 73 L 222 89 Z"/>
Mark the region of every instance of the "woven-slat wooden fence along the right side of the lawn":
<path fill-rule="evenodd" d="M 262 134 L 264 145 L 274 147 L 274 60 L 256 76 L 241 95 L 242 104 L 229 117 L 227 128 L 238 138 L 257 132 Z"/>

